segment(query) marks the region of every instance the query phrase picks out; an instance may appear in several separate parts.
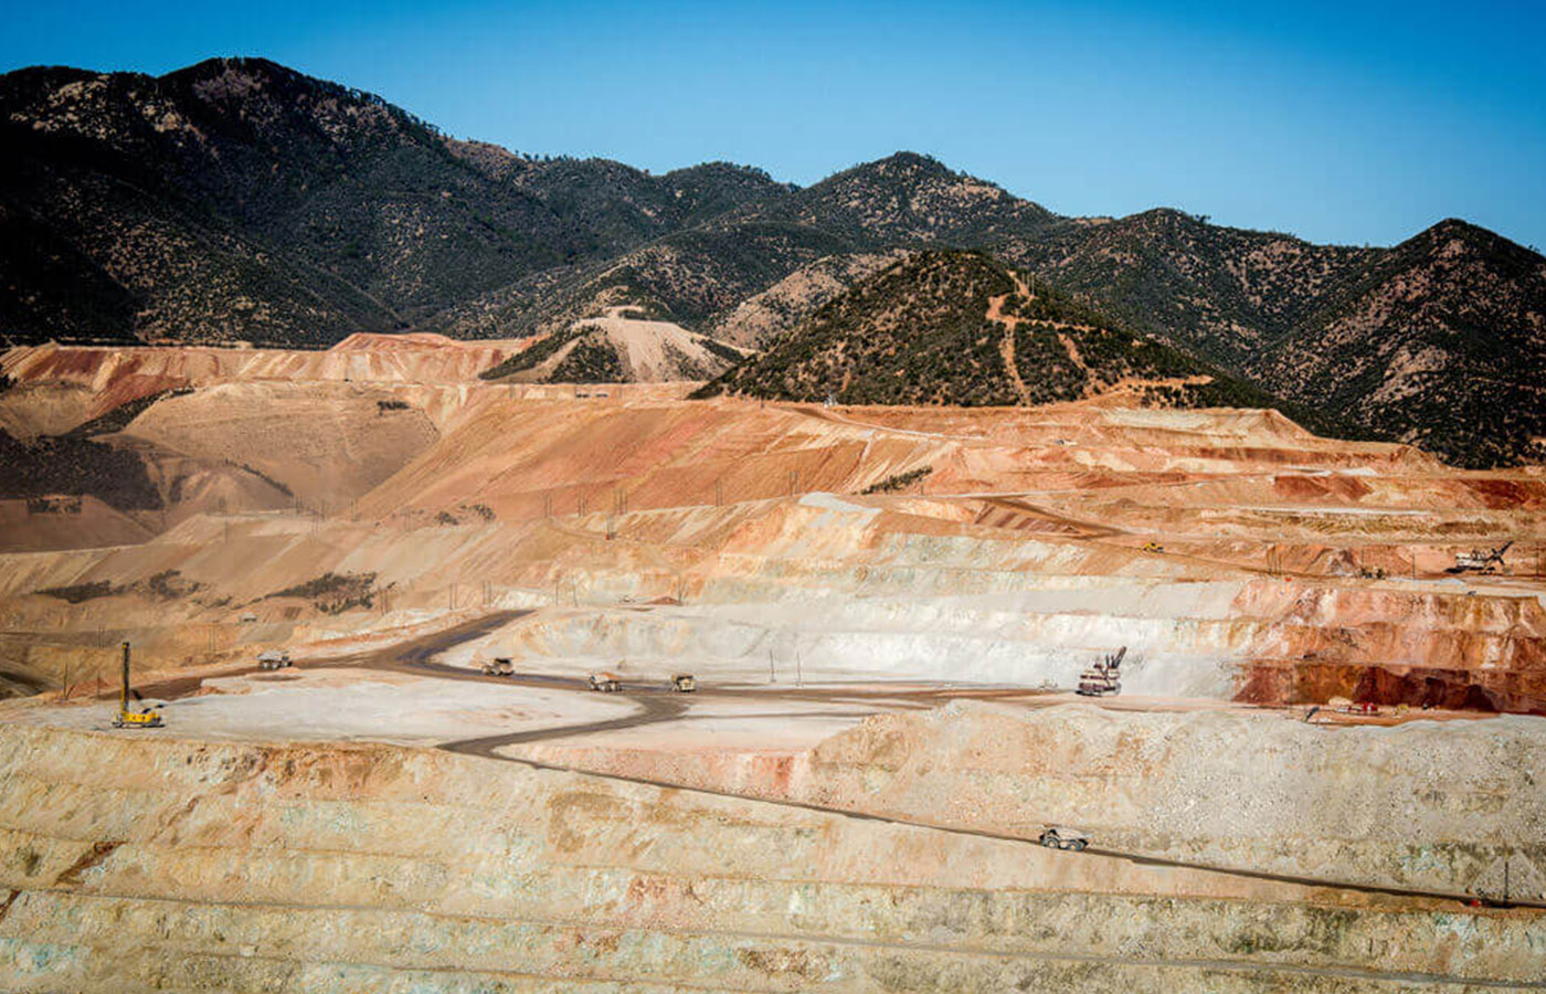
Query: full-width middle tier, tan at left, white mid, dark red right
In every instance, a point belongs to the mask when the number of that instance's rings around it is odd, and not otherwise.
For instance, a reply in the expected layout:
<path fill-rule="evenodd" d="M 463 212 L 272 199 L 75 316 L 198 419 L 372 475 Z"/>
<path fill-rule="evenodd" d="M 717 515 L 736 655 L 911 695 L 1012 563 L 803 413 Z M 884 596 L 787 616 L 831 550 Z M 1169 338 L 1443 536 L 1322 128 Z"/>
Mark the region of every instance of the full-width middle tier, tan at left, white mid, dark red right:
<path fill-rule="evenodd" d="M 138 629 L 156 643 L 156 626 L 175 628 L 161 640 L 165 651 L 155 646 L 167 666 L 249 645 L 233 623 L 240 611 L 305 637 L 379 626 L 393 611 L 547 604 L 583 611 L 530 629 L 516 649 L 555 659 L 697 652 L 730 663 L 798 649 L 843 672 L 1071 685 L 1095 657 L 1125 645 L 1132 693 L 1546 711 L 1537 598 L 1285 583 L 1243 570 L 1203 578 L 1207 570 L 1184 561 L 1122 547 L 897 533 L 887 521 L 836 498 L 634 515 L 614 541 L 604 515 L 407 532 L 257 516 L 229 533 L 199 518 L 136 547 L 0 557 L 0 620 L 59 631 L 66 645 L 80 632 L 90 642 L 93 629 Z M 91 580 L 127 586 L 165 569 L 203 584 L 195 598 L 68 606 L 31 594 Z M 376 574 L 386 594 L 374 614 L 334 618 L 264 600 L 329 570 Z M 199 606 L 224 597 L 224 608 Z M 615 611 L 625 598 L 662 597 L 688 609 L 656 612 L 666 620 Z M 824 631 L 807 631 L 815 617 Z M 62 663 L 32 668 L 43 669 Z"/>

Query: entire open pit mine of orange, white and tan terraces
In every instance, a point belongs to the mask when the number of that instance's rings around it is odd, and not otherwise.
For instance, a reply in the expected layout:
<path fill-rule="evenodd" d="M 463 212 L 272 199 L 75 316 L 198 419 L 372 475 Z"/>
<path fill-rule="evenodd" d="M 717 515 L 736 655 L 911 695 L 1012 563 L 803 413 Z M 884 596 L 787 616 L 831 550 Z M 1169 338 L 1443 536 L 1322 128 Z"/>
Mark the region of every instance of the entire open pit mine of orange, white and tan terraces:
<path fill-rule="evenodd" d="M 1546 989 L 1538 468 L 521 346 L 5 352 L 0 989 Z"/>

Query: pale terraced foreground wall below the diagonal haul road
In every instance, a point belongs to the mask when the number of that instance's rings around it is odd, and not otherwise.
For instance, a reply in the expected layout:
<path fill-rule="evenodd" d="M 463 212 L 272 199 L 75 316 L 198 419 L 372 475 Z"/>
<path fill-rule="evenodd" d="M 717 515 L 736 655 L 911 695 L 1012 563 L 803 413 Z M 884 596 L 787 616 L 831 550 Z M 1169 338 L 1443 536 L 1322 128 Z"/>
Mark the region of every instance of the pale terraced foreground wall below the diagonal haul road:
<path fill-rule="evenodd" d="M 1435 989 L 1521 912 L 1283 884 L 444 753 L 0 728 L 0 988 Z"/>

